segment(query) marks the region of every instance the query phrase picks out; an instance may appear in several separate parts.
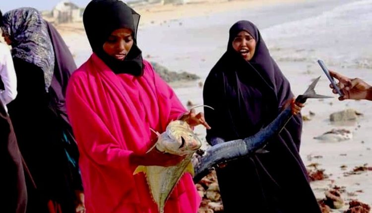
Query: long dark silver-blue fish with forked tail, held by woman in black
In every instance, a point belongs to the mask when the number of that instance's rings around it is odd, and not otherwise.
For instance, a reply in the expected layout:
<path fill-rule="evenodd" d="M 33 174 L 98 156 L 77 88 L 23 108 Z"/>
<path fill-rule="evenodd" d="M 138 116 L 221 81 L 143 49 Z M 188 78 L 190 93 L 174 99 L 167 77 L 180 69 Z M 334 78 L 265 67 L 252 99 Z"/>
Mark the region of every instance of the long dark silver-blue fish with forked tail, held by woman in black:
<path fill-rule="evenodd" d="M 304 104 L 307 99 L 333 98 L 318 95 L 314 88 L 319 78 L 316 78 L 303 95 L 297 97 L 296 101 Z M 269 125 L 257 132 L 255 135 L 245 139 L 225 142 L 222 138 L 214 138 L 212 144 L 201 155 L 194 155 L 192 164 L 194 166 L 194 183 L 197 183 L 219 163 L 244 158 L 254 152 L 262 150 L 267 141 L 280 133 L 287 122 L 291 119 L 291 107 L 285 108 Z"/>

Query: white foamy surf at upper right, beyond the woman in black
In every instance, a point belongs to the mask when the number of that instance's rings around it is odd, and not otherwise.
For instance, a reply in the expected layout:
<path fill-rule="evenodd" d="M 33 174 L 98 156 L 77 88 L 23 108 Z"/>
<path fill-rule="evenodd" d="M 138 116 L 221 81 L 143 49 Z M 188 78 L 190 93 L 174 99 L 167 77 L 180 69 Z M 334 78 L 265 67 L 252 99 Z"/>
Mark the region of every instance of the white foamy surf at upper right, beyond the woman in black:
<path fill-rule="evenodd" d="M 321 58 L 328 65 L 372 69 L 371 26 L 372 0 L 360 0 L 277 24 L 264 29 L 262 35 L 278 60 Z"/>

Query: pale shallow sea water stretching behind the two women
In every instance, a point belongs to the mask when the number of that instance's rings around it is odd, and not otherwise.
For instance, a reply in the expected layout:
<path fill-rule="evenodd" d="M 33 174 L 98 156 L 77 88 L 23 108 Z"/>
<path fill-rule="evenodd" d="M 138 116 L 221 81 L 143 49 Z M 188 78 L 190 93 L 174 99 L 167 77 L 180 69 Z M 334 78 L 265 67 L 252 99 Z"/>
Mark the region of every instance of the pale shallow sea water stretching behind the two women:
<path fill-rule="evenodd" d="M 149 59 L 205 78 L 241 19 L 258 26 L 276 60 L 372 66 L 371 0 L 305 0 L 171 20 L 140 29 L 138 44 Z"/>

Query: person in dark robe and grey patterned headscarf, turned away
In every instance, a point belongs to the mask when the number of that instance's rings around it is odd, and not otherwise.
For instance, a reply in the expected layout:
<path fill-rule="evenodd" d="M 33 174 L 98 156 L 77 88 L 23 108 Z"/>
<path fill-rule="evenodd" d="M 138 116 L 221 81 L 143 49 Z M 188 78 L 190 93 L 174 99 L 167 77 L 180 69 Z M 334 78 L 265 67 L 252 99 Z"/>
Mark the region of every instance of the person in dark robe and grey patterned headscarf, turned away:
<path fill-rule="evenodd" d="M 72 54 L 34 8 L 6 12 L 1 29 L 17 76 L 18 95 L 8 113 L 35 181 L 27 188 L 27 212 L 84 212 L 78 150 L 64 105 L 67 81 L 76 69 Z"/>

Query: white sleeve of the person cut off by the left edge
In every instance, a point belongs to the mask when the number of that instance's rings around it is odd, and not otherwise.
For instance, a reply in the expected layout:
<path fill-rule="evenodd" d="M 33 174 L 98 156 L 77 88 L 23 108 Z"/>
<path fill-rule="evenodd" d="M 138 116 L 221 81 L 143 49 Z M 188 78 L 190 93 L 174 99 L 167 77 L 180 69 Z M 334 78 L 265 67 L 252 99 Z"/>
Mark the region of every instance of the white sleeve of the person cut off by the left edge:
<path fill-rule="evenodd" d="M 0 24 L 2 13 L 0 10 Z M 0 101 L 7 111 L 6 105 L 17 96 L 17 77 L 9 48 L 0 43 Z"/>

